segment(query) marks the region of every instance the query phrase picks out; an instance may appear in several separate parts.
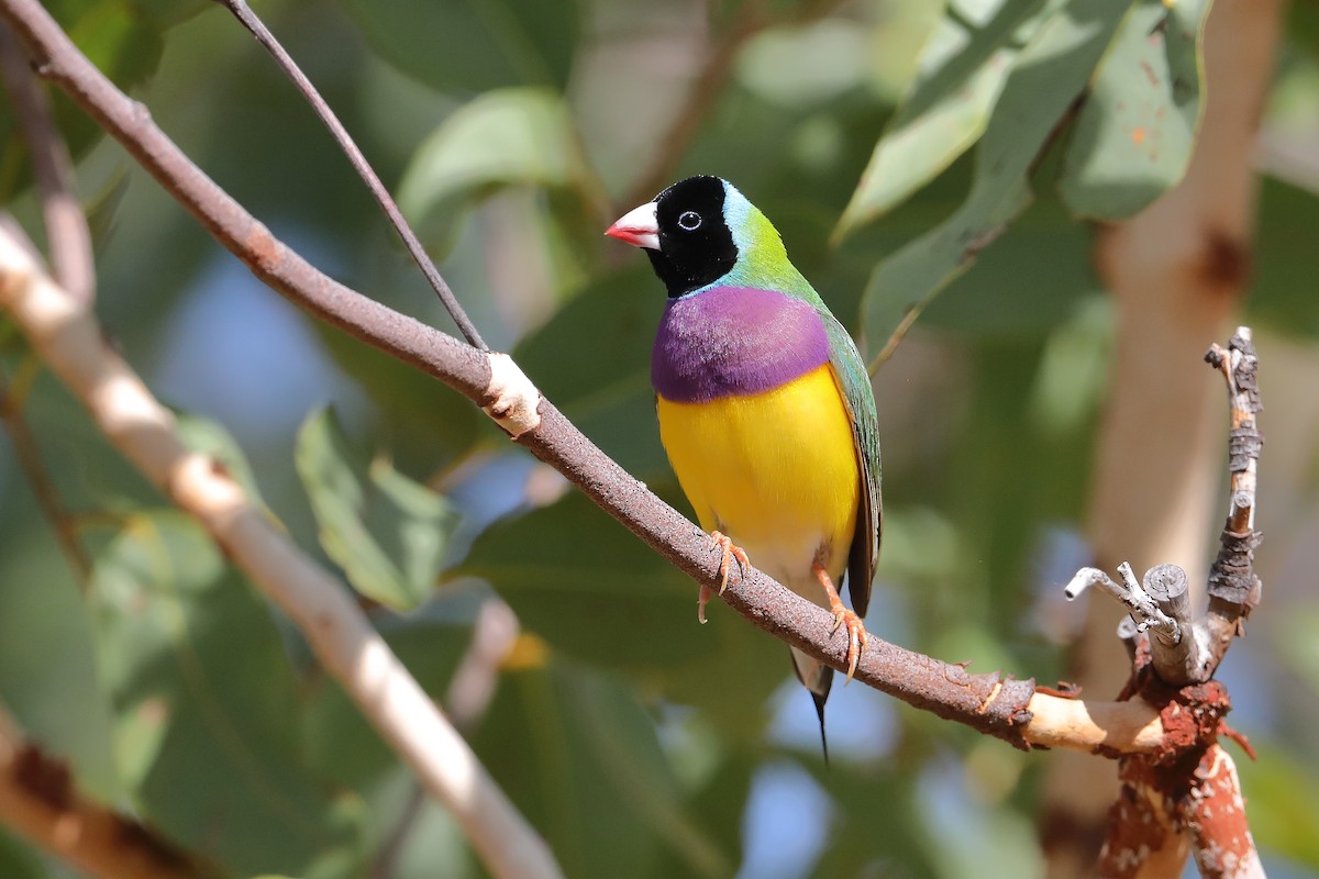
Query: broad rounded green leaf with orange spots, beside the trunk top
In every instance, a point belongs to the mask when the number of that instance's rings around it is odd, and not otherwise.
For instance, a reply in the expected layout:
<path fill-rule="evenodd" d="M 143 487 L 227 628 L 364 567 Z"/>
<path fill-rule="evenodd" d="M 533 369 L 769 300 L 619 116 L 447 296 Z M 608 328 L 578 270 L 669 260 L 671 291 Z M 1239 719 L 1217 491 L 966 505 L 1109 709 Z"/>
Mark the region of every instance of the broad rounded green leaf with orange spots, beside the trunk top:
<path fill-rule="evenodd" d="M 1211 0 L 1142 0 L 1100 65 L 1058 192 L 1076 216 L 1125 220 L 1186 173 L 1204 101 L 1200 43 Z"/>

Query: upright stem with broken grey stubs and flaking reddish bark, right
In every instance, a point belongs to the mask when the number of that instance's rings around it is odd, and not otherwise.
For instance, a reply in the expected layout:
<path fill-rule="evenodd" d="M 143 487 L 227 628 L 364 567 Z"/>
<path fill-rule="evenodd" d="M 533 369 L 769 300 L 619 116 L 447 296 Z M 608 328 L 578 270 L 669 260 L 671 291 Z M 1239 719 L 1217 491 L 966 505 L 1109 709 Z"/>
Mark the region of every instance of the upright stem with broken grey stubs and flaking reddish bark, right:
<path fill-rule="evenodd" d="M 1250 329 L 1237 327 L 1224 351 L 1210 348 L 1206 360 L 1223 372 L 1231 409 L 1228 468 L 1232 476 L 1231 509 L 1223 526 L 1223 550 L 1211 568 L 1210 610 L 1191 619 L 1186 572 L 1158 565 L 1136 582 L 1122 564 L 1125 589 L 1105 590 L 1140 617 L 1140 630 L 1154 637 L 1138 646 L 1126 693 L 1166 705 L 1169 741 L 1181 747 L 1166 752 L 1126 755 L 1119 763 L 1122 789 L 1108 814 L 1108 837 L 1100 854 L 1100 875 L 1158 879 L 1181 872 L 1188 851 L 1204 876 L 1250 879 L 1262 876 L 1254 841 L 1245 818 L 1241 785 L 1232 758 L 1217 745 L 1220 734 L 1249 743 L 1224 725 L 1231 709 L 1227 691 L 1212 681 L 1232 640 L 1242 634 L 1242 621 L 1260 601 L 1252 551 L 1256 473 L 1264 438 L 1256 427 L 1260 389 L 1258 362 Z M 1101 572 L 1100 580 L 1107 580 Z M 1095 580 L 1095 577 L 1091 577 Z M 1150 611 L 1169 626 L 1149 623 Z M 1177 688 L 1175 692 L 1170 692 Z"/>

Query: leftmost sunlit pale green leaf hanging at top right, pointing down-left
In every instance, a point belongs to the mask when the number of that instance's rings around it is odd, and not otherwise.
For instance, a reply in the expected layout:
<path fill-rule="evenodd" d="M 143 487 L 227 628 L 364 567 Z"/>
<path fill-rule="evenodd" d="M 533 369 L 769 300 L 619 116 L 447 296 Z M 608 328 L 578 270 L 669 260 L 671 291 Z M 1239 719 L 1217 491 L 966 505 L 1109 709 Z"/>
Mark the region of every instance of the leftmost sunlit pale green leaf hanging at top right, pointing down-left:
<path fill-rule="evenodd" d="M 843 211 L 835 239 L 898 204 L 984 133 L 1026 41 L 1058 11 L 1046 0 L 948 5 L 921 53 L 911 92 L 889 121 Z"/>

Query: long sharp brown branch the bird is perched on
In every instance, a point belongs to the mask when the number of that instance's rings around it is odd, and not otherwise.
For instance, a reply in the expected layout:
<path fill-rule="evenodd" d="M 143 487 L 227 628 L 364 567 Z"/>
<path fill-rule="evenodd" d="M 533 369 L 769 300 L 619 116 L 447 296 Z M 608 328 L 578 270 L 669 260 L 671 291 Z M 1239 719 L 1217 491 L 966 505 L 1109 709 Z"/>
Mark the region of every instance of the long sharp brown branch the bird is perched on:
<path fill-rule="evenodd" d="M 28 41 L 44 75 L 65 88 L 257 278 L 299 308 L 462 393 L 678 569 L 699 582 L 715 580 L 718 559 L 708 536 L 539 398 L 506 354 L 479 352 L 318 271 L 193 165 L 144 107 L 73 46 L 36 0 L 0 0 L 0 14 Z M 847 640 L 835 637 L 834 617 L 760 571 L 748 568 L 729 584 L 724 601 L 780 640 L 845 668 Z M 1153 750 L 1162 738 L 1157 713 L 1140 702 L 1087 704 L 1035 692 L 1030 680 L 998 672 L 971 675 L 962 666 L 874 637 L 856 679 L 1022 749 L 1039 745 L 1112 756 Z"/>

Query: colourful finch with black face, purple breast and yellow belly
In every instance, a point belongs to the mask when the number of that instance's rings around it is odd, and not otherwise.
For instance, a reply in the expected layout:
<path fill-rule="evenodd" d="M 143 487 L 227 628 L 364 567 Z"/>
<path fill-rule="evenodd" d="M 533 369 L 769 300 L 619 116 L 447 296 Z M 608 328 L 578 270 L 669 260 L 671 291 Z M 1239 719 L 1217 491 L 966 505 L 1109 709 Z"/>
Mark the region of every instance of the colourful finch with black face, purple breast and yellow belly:
<path fill-rule="evenodd" d="M 674 183 L 605 235 L 641 248 L 667 291 L 650 353 L 660 439 L 720 552 L 720 594 L 732 561 L 743 571 L 754 559 L 834 614 L 851 680 L 882 518 L 878 418 L 856 343 L 769 219 L 723 178 Z M 702 623 L 712 592 L 700 586 Z M 828 760 L 834 669 L 790 650 Z"/>

